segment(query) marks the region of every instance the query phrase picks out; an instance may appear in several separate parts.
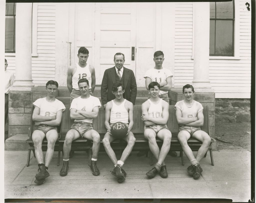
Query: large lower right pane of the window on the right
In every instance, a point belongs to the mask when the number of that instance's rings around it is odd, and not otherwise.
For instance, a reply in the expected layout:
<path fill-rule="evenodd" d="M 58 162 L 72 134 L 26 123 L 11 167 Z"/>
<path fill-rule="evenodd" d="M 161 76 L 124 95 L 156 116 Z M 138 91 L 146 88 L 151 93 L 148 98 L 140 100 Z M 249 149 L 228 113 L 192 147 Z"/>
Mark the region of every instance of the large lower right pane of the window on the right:
<path fill-rule="evenodd" d="M 233 54 L 233 21 L 216 20 L 215 54 Z"/>

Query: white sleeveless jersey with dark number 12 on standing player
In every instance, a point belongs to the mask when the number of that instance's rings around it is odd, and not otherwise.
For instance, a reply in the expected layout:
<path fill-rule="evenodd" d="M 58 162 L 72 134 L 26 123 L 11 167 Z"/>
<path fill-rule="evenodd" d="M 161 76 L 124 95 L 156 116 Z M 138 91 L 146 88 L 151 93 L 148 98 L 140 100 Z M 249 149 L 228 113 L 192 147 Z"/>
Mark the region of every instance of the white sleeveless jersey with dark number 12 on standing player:
<path fill-rule="evenodd" d="M 78 87 L 78 81 L 80 79 L 87 79 L 89 81 L 89 89 L 91 89 L 92 87 L 92 74 L 89 70 L 89 64 L 87 63 L 87 65 L 82 68 L 78 65 L 78 63 L 76 64 L 77 65 L 77 71 L 75 72 L 75 74 L 72 76 L 72 87 L 73 89 L 76 89 L 76 90 L 79 90 L 79 87 Z"/>

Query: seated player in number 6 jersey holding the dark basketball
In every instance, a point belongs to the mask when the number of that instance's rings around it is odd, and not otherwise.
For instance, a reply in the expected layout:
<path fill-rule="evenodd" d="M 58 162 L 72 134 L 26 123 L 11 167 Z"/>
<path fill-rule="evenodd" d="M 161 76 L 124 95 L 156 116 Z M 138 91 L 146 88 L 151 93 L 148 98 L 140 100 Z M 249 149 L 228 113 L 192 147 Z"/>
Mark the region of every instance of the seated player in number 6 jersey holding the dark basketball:
<path fill-rule="evenodd" d="M 115 95 L 115 99 L 106 103 L 105 107 L 105 127 L 108 132 L 105 134 L 102 142 L 105 147 L 106 153 L 109 155 L 111 161 L 114 163 L 115 168 L 112 170 L 112 174 L 118 177 L 118 183 L 121 183 L 125 180 L 126 173 L 122 169 L 122 166 L 132 152 L 132 148 L 135 143 L 135 137 L 131 132 L 133 127 L 133 104 L 132 102 L 127 101 L 123 98 L 123 93 L 125 92 L 124 86 L 122 83 L 114 83 L 112 86 L 112 94 Z M 111 127 L 116 122 L 122 122 L 127 127 L 127 133 L 119 137 L 127 142 L 120 160 L 117 160 L 113 149 L 110 146 L 110 143 L 113 142 L 116 137 L 111 134 Z"/>

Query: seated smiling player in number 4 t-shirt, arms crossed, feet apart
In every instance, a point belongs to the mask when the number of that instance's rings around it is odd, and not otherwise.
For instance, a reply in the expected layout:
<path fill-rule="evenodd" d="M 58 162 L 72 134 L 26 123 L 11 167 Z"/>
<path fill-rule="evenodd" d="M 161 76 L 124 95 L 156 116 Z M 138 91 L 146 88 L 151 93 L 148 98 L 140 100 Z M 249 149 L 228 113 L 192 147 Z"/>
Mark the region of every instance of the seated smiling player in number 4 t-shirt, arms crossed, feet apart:
<path fill-rule="evenodd" d="M 78 87 L 81 96 L 73 99 L 70 105 L 70 118 L 74 119 L 74 123 L 65 137 L 63 145 L 63 166 L 60 170 L 60 175 L 66 176 L 68 174 L 69 153 L 72 141 L 81 137 L 93 141 L 91 170 L 94 176 L 98 176 L 100 175 L 100 170 L 97 168 L 96 162 L 100 149 L 100 135 L 97 131 L 93 130 L 92 121 L 98 116 L 101 104 L 97 97 L 90 95 L 89 81 L 87 79 L 80 79 L 78 81 Z"/>

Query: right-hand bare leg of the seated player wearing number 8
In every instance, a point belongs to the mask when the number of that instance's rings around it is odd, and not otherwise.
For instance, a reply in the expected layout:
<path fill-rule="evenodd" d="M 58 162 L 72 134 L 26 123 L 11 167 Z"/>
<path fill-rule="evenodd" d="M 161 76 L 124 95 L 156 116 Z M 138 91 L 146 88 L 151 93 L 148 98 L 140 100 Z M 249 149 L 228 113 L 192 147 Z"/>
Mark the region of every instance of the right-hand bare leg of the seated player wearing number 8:
<path fill-rule="evenodd" d="M 47 139 L 47 151 L 45 155 L 45 166 L 48 167 L 54 153 L 55 143 L 58 140 L 58 132 L 56 130 L 49 130 L 46 133 L 46 139 Z"/>

